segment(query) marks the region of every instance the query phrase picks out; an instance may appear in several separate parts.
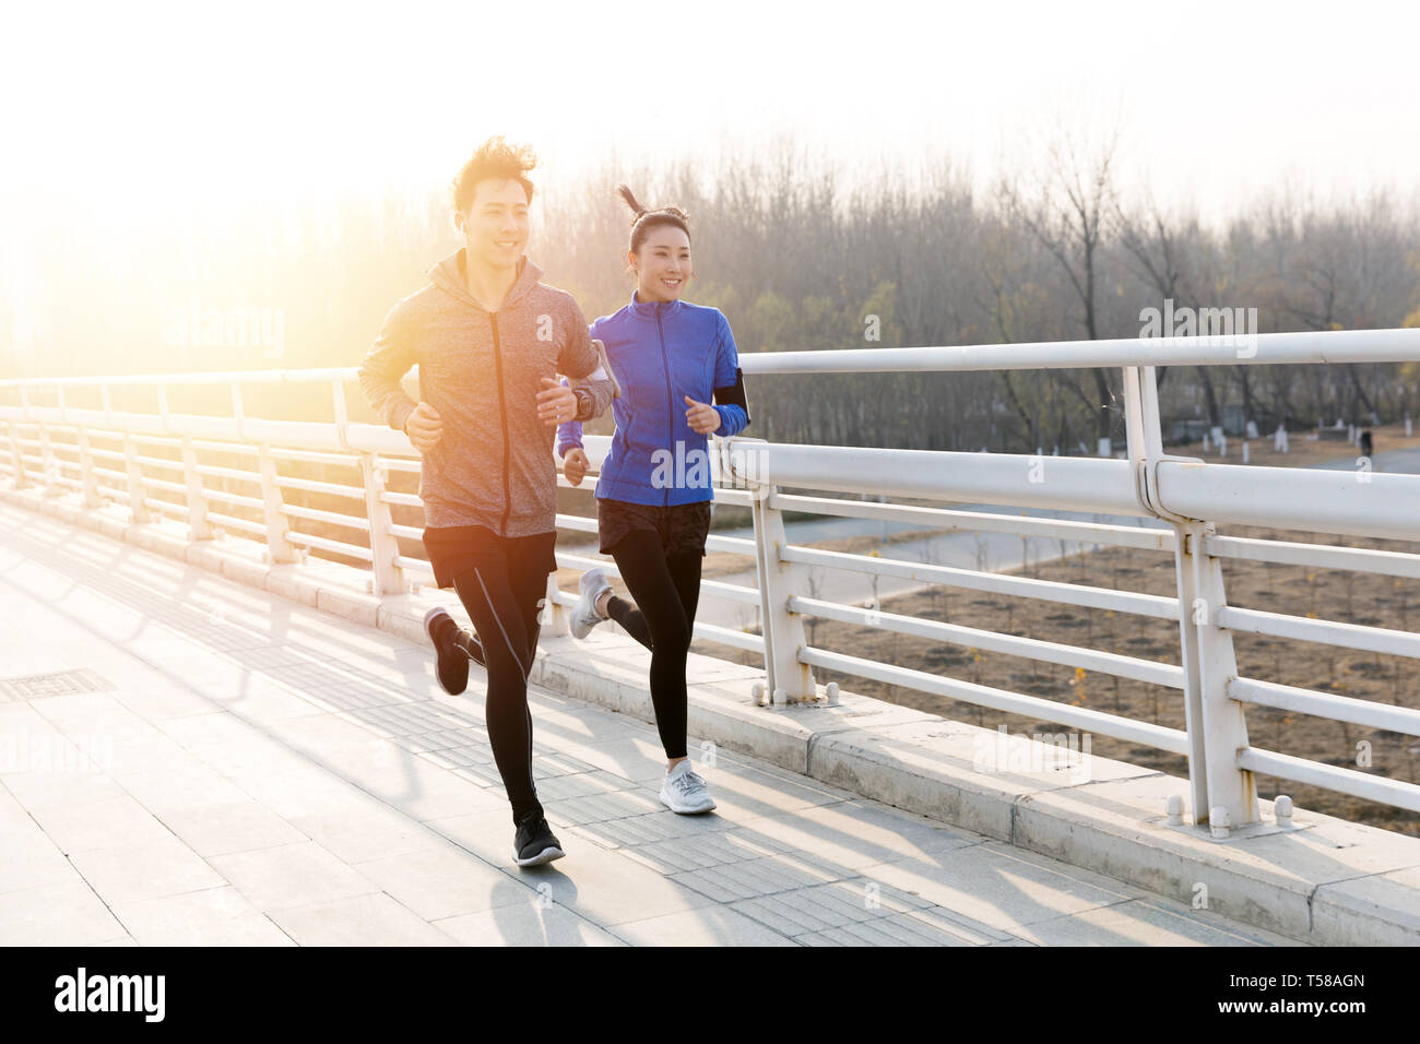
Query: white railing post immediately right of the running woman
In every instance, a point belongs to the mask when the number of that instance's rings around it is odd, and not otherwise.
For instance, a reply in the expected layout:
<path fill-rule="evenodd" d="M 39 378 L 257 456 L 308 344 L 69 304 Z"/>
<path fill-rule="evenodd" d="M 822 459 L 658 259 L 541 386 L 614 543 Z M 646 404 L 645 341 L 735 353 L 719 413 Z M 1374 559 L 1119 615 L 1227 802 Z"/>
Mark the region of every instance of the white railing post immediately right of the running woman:
<path fill-rule="evenodd" d="M 790 612 L 790 598 L 798 594 L 801 567 L 784 561 L 788 535 L 784 514 L 772 506 L 774 486 L 768 482 L 761 439 L 727 440 L 721 450 L 724 469 L 750 491 L 754 518 L 754 568 L 760 581 L 760 631 L 764 635 L 764 668 L 770 699 L 777 703 L 802 703 L 818 697 L 814 672 L 799 662 L 808 645 L 804 618 Z M 723 443 L 724 445 L 724 443 Z"/>

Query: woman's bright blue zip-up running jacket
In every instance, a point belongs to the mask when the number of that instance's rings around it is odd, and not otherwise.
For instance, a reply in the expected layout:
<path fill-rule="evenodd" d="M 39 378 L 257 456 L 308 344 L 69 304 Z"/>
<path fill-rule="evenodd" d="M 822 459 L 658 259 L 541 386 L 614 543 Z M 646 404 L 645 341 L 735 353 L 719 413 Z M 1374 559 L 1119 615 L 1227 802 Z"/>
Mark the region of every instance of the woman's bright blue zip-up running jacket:
<path fill-rule="evenodd" d="M 612 399 L 616 435 L 596 480 L 599 500 L 633 504 L 694 504 L 714 499 L 710 484 L 709 436 L 686 422 L 686 401 L 711 402 L 716 389 L 734 388 L 740 354 L 730 322 L 719 308 L 686 301 L 630 304 L 591 325 L 592 339 L 606 345 L 621 398 Z M 738 403 L 713 403 L 720 415 L 714 433 L 738 435 L 750 418 Z M 558 428 L 557 452 L 582 445 L 582 426 Z"/>

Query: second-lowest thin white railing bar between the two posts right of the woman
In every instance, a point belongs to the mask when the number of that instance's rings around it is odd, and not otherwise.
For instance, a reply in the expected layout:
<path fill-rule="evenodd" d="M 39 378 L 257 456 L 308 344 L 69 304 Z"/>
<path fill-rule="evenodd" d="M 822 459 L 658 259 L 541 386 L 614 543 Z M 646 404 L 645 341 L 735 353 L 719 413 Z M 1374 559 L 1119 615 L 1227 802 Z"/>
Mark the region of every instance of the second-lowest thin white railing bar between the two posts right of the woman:
<path fill-rule="evenodd" d="M 1149 685 L 1183 689 L 1181 666 L 1154 663 L 1153 660 L 1136 656 L 1120 656 L 1113 652 L 1088 649 L 1079 645 L 1064 645 L 1061 642 L 1045 642 L 1038 638 L 1003 635 L 995 631 L 981 631 L 980 628 L 968 628 L 961 624 L 917 619 L 916 616 L 903 616 L 896 612 L 882 612 L 880 609 L 862 609 L 856 605 L 839 605 L 818 598 L 799 598 L 795 595 L 790 598 L 788 609 L 790 612 L 836 619 L 843 624 L 879 626 L 903 635 L 966 646 L 967 649 L 1000 652 L 1007 656 L 1022 656 L 1042 663 L 1083 668 L 1085 670 L 1098 670 L 1119 678 L 1132 678 L 1136 682 L 1147 682 Z"/>

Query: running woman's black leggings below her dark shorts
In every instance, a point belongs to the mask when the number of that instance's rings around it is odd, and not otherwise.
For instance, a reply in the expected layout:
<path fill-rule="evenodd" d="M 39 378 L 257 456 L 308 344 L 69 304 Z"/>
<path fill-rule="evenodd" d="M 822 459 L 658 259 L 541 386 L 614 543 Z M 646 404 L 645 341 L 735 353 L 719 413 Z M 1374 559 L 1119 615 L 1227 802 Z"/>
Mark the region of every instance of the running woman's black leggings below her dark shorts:
<path fill-rule="evenodd" d="M 686 757 L 686 659 L 700 601 L 700 553 L 667 555 L 649 530 L 632 530 L 611 551 L 636 604 L 612 595 L 606 615 L 650 649 L 660 746 L 666 757 Z"/>

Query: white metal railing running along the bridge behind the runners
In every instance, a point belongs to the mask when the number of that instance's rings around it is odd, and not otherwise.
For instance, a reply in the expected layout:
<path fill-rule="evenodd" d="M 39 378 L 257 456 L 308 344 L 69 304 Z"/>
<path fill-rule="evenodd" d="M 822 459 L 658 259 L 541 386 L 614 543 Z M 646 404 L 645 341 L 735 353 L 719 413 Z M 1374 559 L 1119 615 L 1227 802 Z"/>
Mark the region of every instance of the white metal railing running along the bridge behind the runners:
<path fill-rule="evenodd" d="M 767 692 L 777 705 L 818 699 L 819 686 L 814 680 L 814 669 L 821 668 L 1184 754 L 1189 758 L 1194 821 L 1210 824 L 1216 832 L 1225 832 L 1228 825 L 1257 821 L 1255 773 L 1420 811 L 1420 787 L 1414 784 L 1251 746 L 1245 707 L 1279 707 L 1410 736 L 1420 736 L 1420 710 L 1240 678 L 1233 632 L 1370 649 L 1410 659 L 1420 658 L 1420 635 L 1230 607 L 1221 572 L 1221 562 L 1233 558 L 1420 578 L 1420 555 L 1224 537 L 1216 531 L 1218 524 L 1271 526 L 1302 533 L 1416 540 L 1420 538 L 1420 476 L 1383 474 L 1366 469 L 1240 467 L 1169 456 L 1163 453 L 1154 385 L 1154 365 L 1410 359 L 1420 359 L 1420 330 L 1268 334 L 1257 337 L 1247 354 L 1237 351 L 1234 344 L 1220 347 L 1214 339 L 1201 337 L 744 355 L 741 365 L 748 375 L 1119 366 L 1125 385 L 1127 453 L 1126 459 L 1116 460 L 797 446 L 746 437 L 716 440 L 714 472 L 721 483 L 716 499 L 751 510 L 754 540 L 711 535 L 709 550 L 753 557 L 758 582 L 751 588 L 704 581 L 703 592 L 754 605 L 761 634 L 704 622 L 696 624 L 694 634 L 697 638 L 763 655 Z M 1149 365 L 1143 365 L 1145 362 Z M 390 517 L 392 507 L 417 507 L 419 497 L 390 490 L 388 482 L 393 472 L 417 473 L 420 463 L 402 433 L 383 425 L 352 423 L 346 419 L 345 385 L 355 381 L 356 375 L 356 369 L 346 368 L 0 381 L 0 395 L 10 388 L 20 398 L 18 405 L 0 405 L 0 422 L 4 423 L 9 446 L 9 460 L 0 460 L 0 472 L 7 472 L 17 486 L 38 483 L 51 494 L 77 493 L 88 507 L 99 507 L 105 500 L 126 504 L 132 521 L 183 518 L 193 540 L 209 538 L 217 527 L 250 534 L 266 543 L 267 555 L 275 562 L 298 560 L 308 548 L 366 561 L 372 568 L 373 592 L 402 592 L 408 587 L 408 577 L 432 574 L 427 562 L 400 554 L 398 547 L 398 538 L 416 540 L 422 530 L 396 524 Z M 335 422 L 246 416 L 241 386 L 270 382 L 325 385 L 332 395 Z M 187 384 L 229 385 L 230 416 L 170 412 L 168 386 Z M 155 388 L 158 410 L 135 413 L 112 409 L 111 388 L 119 385 Z M 102 408 L 68 406 L 64 393 L 71 388 L 97 388 Z M 34 398 L 41 393 L 51 395 L 55 401 L 36 402 Z M 585 443 L 595 472 L 608 452 L 609 439 L 586 436 Z M 155 456 L 153 447 L 176 456 Z M 213 453 L 253 459 L 254 469 L 204 463 L 203 456 Z M 349 464 L 359 469 L 359 484 L 281 474 L 281 462 Z M 207 480 L 241 483 L 246 491 L 213 489 Z M 567 486 L 564 479 L 559 483 Z M 790 489 L 811 490 L 815 496 L 787 493 Z M 364 503 L 364 510 L 342 514 L 287 504 L 283 500 L 284 490 L 358 500 Z M 155 493 L 176 500 L 153 496 Z M 858 500 L 863 493 L 943 504 L 1005 504 L 1160 518 L 1167 528 Z M 260 521 L 231 514 L 237 509 Z M 1174 557 L 1177 597 L 798 545 L 787 537 L 784 511 L 1154 550 Z M 352 544 L 311 534 L 298 528 L 302 521 L 345 527 L 364 540 Z M 588 533 L 596 530 L 595 520 L 579 516 L 559 514 L 557 521 L 564 528 Z M 613 564 L 601 558 L 567 551 L 558 551 L 557 558 L 559 565 L 586 568 L 596 564 L 616 572 Z M 1083 646 L 829 602 L 811 597 L 809 570 L 841 570 L 875 578 L 896 577 L 922 584 L 1044 599 L 1082 611 L 1177 621 L 1181 662 L 1177 666 L 1157 663 Z M 565 607 L 574 604 L 575 598 L 559 591 L 552 578 L 548 595 L 558 626 L 565 626 Z M 930 641 L 1076 666 L 1176 689 L 1183 695 L 1184 729 L 1167 729 L 814 648 L 805 638 L 808 618 L 865 624 Z"/>

